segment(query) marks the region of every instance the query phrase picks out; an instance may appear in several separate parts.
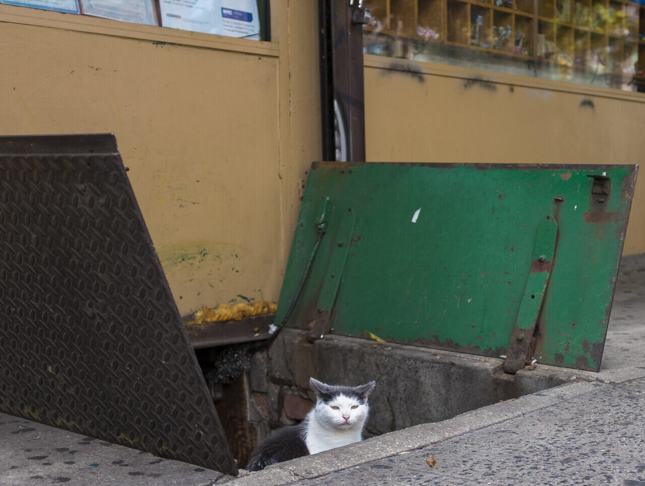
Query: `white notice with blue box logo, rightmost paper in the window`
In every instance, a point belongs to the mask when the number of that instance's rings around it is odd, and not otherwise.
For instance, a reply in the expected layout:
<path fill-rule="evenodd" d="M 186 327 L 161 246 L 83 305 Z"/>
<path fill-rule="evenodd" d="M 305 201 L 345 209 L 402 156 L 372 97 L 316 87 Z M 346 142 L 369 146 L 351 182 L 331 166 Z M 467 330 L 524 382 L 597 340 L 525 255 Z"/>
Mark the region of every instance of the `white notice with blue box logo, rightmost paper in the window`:
<path fill-rule="evenodd" d="M 159 0 L 161 25 L 259 39 L 256 0 Z"/>

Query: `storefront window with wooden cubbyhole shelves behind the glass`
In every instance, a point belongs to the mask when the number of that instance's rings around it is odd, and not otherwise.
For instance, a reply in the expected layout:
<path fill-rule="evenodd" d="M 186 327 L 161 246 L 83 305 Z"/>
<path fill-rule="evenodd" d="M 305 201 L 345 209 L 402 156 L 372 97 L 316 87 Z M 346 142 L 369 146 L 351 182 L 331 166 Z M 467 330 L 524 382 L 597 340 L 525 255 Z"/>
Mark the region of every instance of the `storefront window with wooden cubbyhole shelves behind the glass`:
<path fill-rule="evenodd" d="M 645 0 L 642 0 L 645 3 Z M 370 0 L 364 52 L 626 91 L 645 87 L 645 5 Z"/>

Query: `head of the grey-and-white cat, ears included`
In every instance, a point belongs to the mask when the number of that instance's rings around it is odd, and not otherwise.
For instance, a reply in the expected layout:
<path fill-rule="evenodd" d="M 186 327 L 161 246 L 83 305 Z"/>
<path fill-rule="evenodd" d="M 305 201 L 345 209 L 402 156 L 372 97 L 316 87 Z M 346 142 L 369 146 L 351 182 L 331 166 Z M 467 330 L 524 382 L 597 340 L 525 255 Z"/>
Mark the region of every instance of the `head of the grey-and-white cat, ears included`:
<path fill-rule="evenodd" d="M 331 429 L 362 427 L 369 412 L 367 399 L 375 382 L 351 388 L 330 386 L 312 378 L 310 384 L 318 397 L 316 416 L 319 422 Z"/>

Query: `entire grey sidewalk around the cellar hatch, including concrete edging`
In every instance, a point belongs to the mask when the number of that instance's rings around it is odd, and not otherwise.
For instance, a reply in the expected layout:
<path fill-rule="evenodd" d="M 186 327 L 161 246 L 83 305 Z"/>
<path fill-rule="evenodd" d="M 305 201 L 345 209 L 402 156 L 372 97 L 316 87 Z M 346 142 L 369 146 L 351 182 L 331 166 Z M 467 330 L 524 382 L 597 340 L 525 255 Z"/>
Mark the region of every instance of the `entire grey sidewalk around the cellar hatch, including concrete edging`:
<path fill-rule="evenodd" d="M 622 268 L 601 371 L 571 384 L 239 478 L 0 414 L 0 485 L 645 486 L 645 265 Z"/>

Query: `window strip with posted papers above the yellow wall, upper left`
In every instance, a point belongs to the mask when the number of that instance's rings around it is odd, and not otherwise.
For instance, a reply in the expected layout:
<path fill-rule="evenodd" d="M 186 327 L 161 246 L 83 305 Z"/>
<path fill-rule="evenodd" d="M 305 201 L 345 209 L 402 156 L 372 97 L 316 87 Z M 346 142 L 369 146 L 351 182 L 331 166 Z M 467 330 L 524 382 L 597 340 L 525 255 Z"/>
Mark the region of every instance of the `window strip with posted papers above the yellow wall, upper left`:
<path fill-rule="evenodd" d="M 0 0 L 6 5 L 269 41 L 268 0 Z"/>

